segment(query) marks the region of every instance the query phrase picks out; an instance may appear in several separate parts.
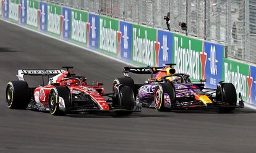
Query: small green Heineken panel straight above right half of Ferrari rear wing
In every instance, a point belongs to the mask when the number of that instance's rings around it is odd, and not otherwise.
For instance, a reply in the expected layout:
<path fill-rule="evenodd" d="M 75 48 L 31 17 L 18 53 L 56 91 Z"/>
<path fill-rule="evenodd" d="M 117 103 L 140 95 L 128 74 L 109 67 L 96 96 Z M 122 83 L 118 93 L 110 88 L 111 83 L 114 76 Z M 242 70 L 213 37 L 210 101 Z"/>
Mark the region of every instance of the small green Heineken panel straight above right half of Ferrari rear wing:
<path fill-rule="evenodd" d="M 48 3 L 47 31 L 50 35 L 61 36 L 61 6 Z"/>

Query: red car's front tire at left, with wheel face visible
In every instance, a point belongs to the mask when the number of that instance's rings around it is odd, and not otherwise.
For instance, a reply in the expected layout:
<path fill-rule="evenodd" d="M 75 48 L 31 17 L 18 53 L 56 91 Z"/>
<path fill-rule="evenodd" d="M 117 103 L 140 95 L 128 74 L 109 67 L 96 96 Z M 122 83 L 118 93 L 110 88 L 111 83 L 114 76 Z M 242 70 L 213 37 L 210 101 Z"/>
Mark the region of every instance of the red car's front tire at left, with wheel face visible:
<path fill-rule="evenodd" d="M 59 98 L 62 98 L 64 100 L 64 108 L 59 107 Z M 51 113 L 51 115 L 66 115 L 66 108 L 69 108 L 70 104 L 71 95 L 69 88 L 67 88 L 66 86 L 56 86 L 51 89 L 48 98 L 49 112 Z"/>

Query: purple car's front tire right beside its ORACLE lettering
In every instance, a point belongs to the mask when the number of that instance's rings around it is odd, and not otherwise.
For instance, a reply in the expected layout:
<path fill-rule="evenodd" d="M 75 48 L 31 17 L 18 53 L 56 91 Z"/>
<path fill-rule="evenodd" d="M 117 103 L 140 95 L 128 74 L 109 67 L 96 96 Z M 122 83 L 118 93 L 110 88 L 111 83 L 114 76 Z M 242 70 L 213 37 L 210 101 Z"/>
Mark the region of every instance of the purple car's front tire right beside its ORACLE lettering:
<path fill-rule="evenodd" d="M 164 94 L 168 94 L 169 96 L 169 107 L 166 107 L 164 105 Z M 158 111 L 170 111 L 171 110 L 171 104 L 174 104 L 176 99 L 176 91 L 174 88 L 173 83 L 160 83 L 156 86 L 155 92 L 154 92 L 154 102 L 155 107 Z"/>

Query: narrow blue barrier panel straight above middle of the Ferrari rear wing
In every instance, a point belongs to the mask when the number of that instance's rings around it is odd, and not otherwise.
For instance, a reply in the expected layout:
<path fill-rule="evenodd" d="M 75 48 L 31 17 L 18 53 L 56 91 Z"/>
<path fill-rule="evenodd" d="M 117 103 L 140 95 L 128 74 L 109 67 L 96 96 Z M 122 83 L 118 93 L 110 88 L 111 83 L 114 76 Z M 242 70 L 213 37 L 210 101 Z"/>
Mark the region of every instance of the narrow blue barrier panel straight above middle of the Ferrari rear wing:
<path fill-rule="evenodd" d="M 46 2 L 40 2 L 40 30 L 43 32 L 47 31 L 47 3 Z"/>

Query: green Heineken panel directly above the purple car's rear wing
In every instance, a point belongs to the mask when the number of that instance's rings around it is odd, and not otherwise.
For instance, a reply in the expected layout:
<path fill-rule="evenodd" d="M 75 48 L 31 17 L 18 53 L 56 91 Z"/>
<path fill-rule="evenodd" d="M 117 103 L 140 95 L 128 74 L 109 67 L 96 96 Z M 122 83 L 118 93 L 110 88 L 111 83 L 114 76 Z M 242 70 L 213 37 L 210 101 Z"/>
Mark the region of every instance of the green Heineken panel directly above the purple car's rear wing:
<path fill-rule="evenodd" d="M 132 25 L 132 62 L 139 66 L 155 66 L 156 29 Z"/>

